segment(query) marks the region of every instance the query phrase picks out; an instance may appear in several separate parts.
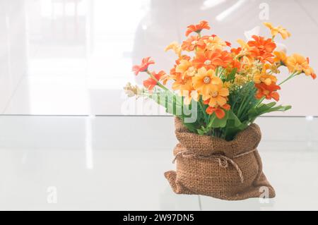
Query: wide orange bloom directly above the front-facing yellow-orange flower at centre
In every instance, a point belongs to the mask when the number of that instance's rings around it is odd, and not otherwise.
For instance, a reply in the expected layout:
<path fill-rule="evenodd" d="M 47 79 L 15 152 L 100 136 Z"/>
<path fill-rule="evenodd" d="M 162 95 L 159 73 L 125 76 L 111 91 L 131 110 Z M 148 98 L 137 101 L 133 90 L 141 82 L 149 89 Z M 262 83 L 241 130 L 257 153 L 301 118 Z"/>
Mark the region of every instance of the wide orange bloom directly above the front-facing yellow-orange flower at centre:
<path fill-rule="evenodd" d="M 204 67 L 206 69 L 215 69 L 217 66 L 226 67 L 232 62 L 232 57 L 228 51 L 216 49 L 215 51 L 199 51 L 192 61 L 195 68 Z"/>

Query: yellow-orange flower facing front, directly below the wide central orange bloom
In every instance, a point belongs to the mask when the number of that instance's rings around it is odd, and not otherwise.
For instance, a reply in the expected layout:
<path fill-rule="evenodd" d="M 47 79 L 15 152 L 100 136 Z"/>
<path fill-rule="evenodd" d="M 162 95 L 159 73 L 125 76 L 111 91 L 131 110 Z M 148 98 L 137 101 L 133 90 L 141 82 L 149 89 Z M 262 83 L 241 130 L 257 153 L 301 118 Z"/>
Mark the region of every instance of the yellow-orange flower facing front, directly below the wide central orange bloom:
<path fill-rule="evenodd" d="M 198 73 L 192 78 L 193 87 L 201 95 L 208 95 L 211 92 L 211 88 L 214 85 L 222 86 L 222 80 L 216 77 L 213 70 L 201 67 L 198 70 Z"/>

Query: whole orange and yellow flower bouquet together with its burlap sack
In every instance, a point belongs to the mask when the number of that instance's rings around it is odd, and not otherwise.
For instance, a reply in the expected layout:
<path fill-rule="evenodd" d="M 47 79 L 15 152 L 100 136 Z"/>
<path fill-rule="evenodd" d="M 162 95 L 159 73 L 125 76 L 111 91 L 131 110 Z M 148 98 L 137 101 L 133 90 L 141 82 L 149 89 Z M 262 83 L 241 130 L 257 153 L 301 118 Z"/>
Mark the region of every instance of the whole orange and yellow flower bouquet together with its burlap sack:
<path fill-rule="evenodd" d="M 133 67 L 135 75 L 144 72 L 148 79 L 143 88 L 126 85 L 127 94 L 153 99 L 176 116 L 177 171 L 165 173 L 175 193 L 241 200 L 264 191 L 274 197 L 257 152 L 261 133 L 253 122 L 262 114 L 291 108 L 276 104 L 283 83 L 302 73 L 316 74 L 308 58 L 286 56 L 276 47 L 278 35 L 290 37 L 285 28 L 264 25 L 271 37 L 238 39 L 239 47 L 231 48 L 217 35 L 202 35 L 210 26 L 201 21 L 187 27 L 181 45 L 166 47 L 177 54 L 170 73 L 150 71 L 150 57 Z M 287 76 L 279 74 L 284 67 Z M 285 79 L 278 83 L 277 75 Z"/>

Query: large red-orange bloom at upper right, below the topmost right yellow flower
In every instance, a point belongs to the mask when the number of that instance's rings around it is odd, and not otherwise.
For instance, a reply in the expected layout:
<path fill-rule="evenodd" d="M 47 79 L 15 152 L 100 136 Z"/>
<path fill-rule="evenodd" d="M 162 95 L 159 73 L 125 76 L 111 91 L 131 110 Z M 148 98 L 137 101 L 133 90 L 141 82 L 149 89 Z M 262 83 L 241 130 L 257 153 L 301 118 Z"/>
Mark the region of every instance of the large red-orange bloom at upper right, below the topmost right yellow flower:
<path fill-rule="evenodd" d="M 262 63 L 269 61 L 273 63 L 273 52 L 276 49 L 276 44 L 271 41 L 271 39 L 264 39 L 264 37 L 259 37 L 257 35 L 252 36 L 254 41 L 249 41 L 247 44 L 251 49 L 249 50 L 253 57 L 259 59 Z"/>

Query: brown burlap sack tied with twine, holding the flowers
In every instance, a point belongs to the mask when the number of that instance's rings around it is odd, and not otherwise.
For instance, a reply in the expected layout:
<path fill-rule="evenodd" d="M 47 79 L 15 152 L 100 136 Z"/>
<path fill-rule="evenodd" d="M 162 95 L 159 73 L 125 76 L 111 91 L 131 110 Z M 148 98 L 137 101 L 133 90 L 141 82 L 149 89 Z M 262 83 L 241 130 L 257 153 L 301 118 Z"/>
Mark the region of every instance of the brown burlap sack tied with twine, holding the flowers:
<path fill-rule="evenodd" d="M 261 130 L 253 123 L 225 141 L 207 135 L 190 133 L 175 118 L 175 134 L 179 143 L 174 155 L 176 171 L 165 172 L 177 194 L 208 195 L 223 200 L 249 197 L 275 197 L 275 190 L 262 171 L 257 145 Z"/>

